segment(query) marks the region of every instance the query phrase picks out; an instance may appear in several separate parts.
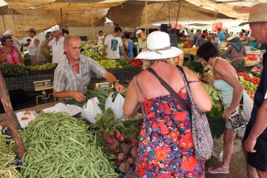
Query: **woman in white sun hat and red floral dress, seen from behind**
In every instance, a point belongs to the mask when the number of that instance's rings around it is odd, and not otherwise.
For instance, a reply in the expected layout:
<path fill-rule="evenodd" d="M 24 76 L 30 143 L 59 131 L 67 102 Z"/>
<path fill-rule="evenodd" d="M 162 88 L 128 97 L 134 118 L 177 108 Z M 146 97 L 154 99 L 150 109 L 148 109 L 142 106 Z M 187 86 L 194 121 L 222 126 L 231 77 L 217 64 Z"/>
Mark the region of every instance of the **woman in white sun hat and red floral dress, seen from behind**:
<path fill-rule="evenodd" d="M 170 58 L 182 53 L 170 46 L 169 35 L 152 32 L 148 49 L 137 58 L 144 59 L 143 68 L 151 67 L 190 105 L 181 73 Z M 199 80 L 183 68 L 190 83 L 193 100 L 203 112 L 211 109 L 211 100 Z M 136 177 L 204 177 L 204 161 L 195 157 L 191 117 L 179 101 L 160 84 L 157 77 L 144 70 L 133 78 L 124 101 L 124 115 L 141 108 L 143 126 L 136 159 Z"/>

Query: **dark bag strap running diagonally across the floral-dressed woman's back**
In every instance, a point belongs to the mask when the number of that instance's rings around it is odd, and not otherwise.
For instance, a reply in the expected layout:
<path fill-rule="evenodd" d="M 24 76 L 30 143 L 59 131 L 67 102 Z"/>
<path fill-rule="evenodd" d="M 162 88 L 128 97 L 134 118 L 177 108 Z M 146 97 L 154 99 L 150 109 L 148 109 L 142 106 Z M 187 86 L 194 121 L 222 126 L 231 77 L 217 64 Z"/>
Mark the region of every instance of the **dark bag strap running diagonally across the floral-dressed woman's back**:
<path fill-rule="evenodd" d="M 187 103 L 185 103 L 185 101 L 183 100 L 183 98 L 181 98 L 181 96 L 179 96 L 174 89 L 172 89 L 169 84 L 167 84 L 167 82 L 165 82 L 162 77 L 159 77 L 159 75 L 157 75 L 157 72 L 155 72 L 155 70 L 153 70 L 152 68 L 148 68 L 147 69 L 149 72 L 151 72 L 153 75 L 155 75 L 155 77 L 157 77 L 157 79 L 159 80 L 159 82 L 162 84 L 162 86 L 167 89 L 167 91 L 169 91 L 170 94 L 172 94 L 174 96 L 174 98 L 176 98 L 177 101 L 179 101 L 183 106 L 185 106 L 185 108 L 190 111 L 190 107 L 188 106 Z"/>

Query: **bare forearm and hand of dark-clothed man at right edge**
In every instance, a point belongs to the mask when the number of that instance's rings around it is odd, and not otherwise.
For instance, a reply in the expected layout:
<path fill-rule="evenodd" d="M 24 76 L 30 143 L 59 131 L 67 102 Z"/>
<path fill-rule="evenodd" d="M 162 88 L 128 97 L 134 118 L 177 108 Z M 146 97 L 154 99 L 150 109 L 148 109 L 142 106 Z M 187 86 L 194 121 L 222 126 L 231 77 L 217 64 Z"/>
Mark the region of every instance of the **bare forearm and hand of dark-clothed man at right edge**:
<path fill-rule="evenodd" d="M 263 101 L 263 104 L 259 108 L 258 114 L 256 116 L 256 122 L 252 127 L 252 131 L 250 132 L 249 136 L 252 139 L 257 139 L 259 135 L 266 129 L 267 127 L 267 100 Z"/>

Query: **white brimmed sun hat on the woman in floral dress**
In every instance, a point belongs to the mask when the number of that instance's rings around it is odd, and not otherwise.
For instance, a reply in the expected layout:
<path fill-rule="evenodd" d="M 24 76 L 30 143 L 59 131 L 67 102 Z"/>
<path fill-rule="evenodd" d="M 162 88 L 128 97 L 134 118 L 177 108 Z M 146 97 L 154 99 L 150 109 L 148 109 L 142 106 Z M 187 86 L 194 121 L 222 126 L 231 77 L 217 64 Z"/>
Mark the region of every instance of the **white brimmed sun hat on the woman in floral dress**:
<path fill-rule="evenodd" d="M 171 46 L 169 34 L 155 31 L 148 35 L 147 47 L 136 58 L 156 60 L 174 58 L 183 53 L 180 49 Z"/>

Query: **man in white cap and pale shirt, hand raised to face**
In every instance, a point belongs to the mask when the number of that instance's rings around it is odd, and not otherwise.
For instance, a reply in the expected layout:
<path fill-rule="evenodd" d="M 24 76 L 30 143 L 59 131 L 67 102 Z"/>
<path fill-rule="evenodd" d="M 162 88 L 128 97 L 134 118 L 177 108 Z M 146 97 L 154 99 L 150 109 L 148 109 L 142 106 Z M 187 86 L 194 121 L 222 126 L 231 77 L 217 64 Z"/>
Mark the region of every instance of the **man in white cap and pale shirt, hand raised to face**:
<path fill-rule="evenodd" d="M 63 58 L 64 49 L 63 49 L 64 37 L 61 35 L 60 27 L 56 25 L 52 29 L 52 33 L 46 39 L 44 46 L 52 46 L 53 49 L 53 60 L 52 63 L 59 63 L 61 58 Z"/>

